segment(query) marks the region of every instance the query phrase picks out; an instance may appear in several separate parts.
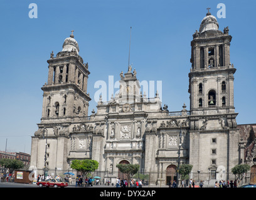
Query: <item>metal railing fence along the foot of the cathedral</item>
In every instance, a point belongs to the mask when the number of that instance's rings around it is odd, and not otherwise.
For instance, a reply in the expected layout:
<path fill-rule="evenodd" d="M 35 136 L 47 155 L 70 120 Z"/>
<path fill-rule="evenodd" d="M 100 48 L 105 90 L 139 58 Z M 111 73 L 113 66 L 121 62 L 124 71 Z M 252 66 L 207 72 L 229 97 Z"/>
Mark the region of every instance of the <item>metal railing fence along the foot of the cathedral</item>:
<path fill-rule="evenodd" d="M 55 169 L 55 170 L 46 171 L 46 176 L 50 175 L 52 177 L 55 177 L 56 175 L 58 175 L 61 178 L 65 178 L 65 176 L 67 175 L 65 175 L 64 173 L 67 173 L 67 172 L 75 174 L 71 176 L 73 183 L 75 183 L 75 179 L 77 178 L 77 176 L 82 175 L 81 173 L 73 169 L 70 169 L 68 171 Z M 44 173 L 43 169 L 41 170 L 37 169 L 36 176 L 43 173 Z M 181 178 L 177 179 L 177 175 L 178 175 L 177 173 L 169 174 L 169 173 L 166 173 L 166 171 L 139 172 L 137 174 L 134 174 L 132 179 L 134 179 L 134 181 L 142 180 L 144 187 L 169 187 L 168 185 L 169 181 L 173 183 L 174 180 L 178 182 L 180 186 Z M 120 178 L 120 180 L 127 179 L 125 174 L 120 173 L 120 171 L 112 171 L 112 172 L 94 171 L 93 173 L 89 173 L 87 177 L 94 178 L 95 176 L 98 176 L 100 178 L 98 183 L 100 185 L 107 184 L 107 185 L 115 186 L 117 178 Z M 184 187 L 189 186 L 190 179 L 195 180 L 196 185 L 199 185 L 200 181 L 203 181 L 204 187 L 214 187 L 216 181 L 218 182 L 219 181 L 235 181 L 237 177 L 232 173 L 221 173 L 221 174 L 216 173 L 215 176 L 213 176 L 213 174 L 211 173 L 191 173 L 189 174 L 188 178 L 184 180 L 184 183 L 185 183 Z M 242 179 L 240 185 L 248 184 L 248 183 L 250 183 L 250 173 L 245 174 L 245 178 Z"/>

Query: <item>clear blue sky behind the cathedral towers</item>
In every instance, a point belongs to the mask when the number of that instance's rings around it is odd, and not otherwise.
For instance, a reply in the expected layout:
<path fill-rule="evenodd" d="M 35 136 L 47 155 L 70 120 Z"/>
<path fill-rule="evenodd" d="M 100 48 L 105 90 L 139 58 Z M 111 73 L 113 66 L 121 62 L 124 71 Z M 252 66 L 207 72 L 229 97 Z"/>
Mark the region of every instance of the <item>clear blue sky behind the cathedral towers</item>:
<path fill-rule="evenodd" d="M 28 16 L 30 3 L 38 6 L 37 19 Z M 233 37 L 237 123 L 256 123 L 255 1 L 1 0 L 0 151 L 7 138 L 8 151 L 30 153 L 31 136 L 41 119 L 46 61 L 51 51 L 61 51 L 72 30 L 89 65 L 91 96 L 96 81 L 108 83 L 109 76 L 118 81 L 120 71 L 127 70 L 132 26 L 130 63 L 137 78 L 162 81 L 162 100 L 169 111 L 181 111 L 183 103 L 189 109 L 192 34 L 199 30 L 206 8 L 216 16 L 218 3 L 226 6 L 226 18 L 217 18 L 220 30 L 229 26 Z M 89 115 L 96 105 L 90 102 Z"/>

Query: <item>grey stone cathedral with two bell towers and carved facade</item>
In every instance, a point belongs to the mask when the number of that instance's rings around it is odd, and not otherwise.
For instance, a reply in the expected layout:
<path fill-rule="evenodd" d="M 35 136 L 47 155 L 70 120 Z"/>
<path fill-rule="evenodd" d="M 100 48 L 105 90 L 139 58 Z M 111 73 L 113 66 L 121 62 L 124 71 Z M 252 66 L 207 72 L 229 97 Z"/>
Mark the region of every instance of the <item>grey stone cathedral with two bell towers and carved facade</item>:
<path fill-rule="evenodd" d="M 107 102 L 100 98 L 97 111 L 90 115 L 90 71 L 72 32 L 62 51 L 51 53 L 47 61 L 48 81 L 41 88 L 43 110 L 32 136 L 31 168 L 56 176 L 73 171 L 74 159 L 93 159 L 99 162 L 94 174 L 114 183 L 122 176 L 117 164 L 139 164 L 139 173 L 150 174 L 150 183 L 159 185 L 177 179 L 181 164 L 193 165 L 192 178 L 200 174 L 200 179 L 215 183 L 230 179 L 234 166 L 247 163 L 253 176 L 248 178 L 256 181 L 256 124 L 236 122 L 236 69 L 230 62 L 228 32 L 228 27 L 219 30 L 208 11 L 193 34 L 190 111 L 185 104 L 181 111 L 168 111 L 157 91 L 154 98 L 147 98 L 141 93 L 139 74 L 129 66 L 120 73 L 119 94 Z"/>

